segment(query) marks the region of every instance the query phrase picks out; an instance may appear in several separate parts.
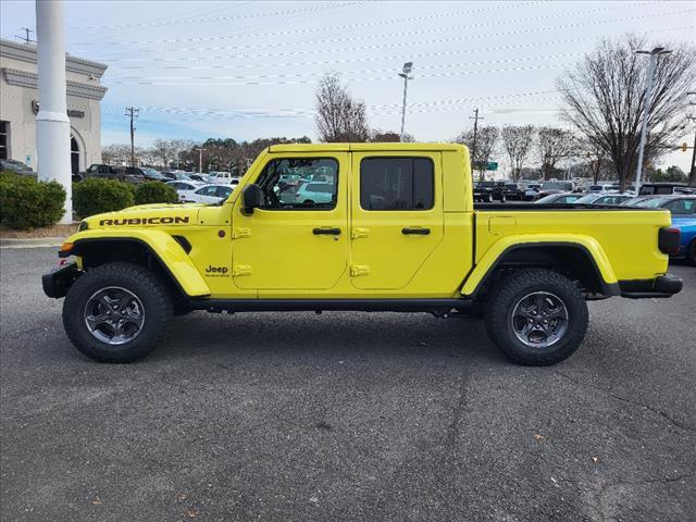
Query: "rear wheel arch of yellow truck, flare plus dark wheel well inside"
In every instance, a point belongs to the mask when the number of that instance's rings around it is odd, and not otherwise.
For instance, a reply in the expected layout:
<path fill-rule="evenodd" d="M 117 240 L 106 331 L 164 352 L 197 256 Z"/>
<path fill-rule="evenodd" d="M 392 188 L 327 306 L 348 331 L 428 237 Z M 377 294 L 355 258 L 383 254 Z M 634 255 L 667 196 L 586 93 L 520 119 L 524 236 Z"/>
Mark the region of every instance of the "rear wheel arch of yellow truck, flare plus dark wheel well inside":
<path fill-rule="evenodd" d="M 579 281 L 588 297 L 620 295 L 611 264 L 593 238 L 583 240 L 520 240 L 506 238 L 494 245 L 465 279 L 461 294 L 481 298 L 506 271 L 532 268 L 550 269 Z"/>

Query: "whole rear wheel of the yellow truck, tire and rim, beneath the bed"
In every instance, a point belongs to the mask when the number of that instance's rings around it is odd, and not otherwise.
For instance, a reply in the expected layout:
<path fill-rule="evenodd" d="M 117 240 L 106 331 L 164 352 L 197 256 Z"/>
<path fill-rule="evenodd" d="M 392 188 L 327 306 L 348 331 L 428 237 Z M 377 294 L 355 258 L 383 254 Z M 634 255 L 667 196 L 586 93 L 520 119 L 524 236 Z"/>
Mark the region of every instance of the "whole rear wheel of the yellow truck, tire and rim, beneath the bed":
<path fill-rule="evenodd" d="M 501 278 L 488 296 L 486 330 L 510 360 L 544 366 L 580 347 L 587 303 L 567 277 L 550 270 L 521 270 Z"/>

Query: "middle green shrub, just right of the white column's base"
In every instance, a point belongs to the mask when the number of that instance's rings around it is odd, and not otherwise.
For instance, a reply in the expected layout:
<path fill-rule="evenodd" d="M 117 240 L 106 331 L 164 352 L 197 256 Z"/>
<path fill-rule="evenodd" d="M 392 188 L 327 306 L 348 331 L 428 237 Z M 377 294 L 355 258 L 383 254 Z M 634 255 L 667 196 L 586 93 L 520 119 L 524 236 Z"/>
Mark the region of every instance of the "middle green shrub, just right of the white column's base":
<path fill-rule="evenodd" d="M 114 212 L 135 204 L 135 190 L 127 183 L 90 177 L 73 184 L 73 210 L 79 217 Z"/>

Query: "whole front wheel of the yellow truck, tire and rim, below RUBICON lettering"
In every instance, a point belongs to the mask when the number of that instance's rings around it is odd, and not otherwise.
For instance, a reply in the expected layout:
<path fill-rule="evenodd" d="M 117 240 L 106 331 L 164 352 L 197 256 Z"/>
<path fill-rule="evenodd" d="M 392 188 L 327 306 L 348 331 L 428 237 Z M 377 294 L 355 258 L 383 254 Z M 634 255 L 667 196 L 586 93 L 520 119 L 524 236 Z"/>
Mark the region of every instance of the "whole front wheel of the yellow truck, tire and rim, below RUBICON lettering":
<path fill-rule="evenodd" d="M 101 362 L 132 362 L 157 347 L 172 318 L 170 291 L 152 272 L 132 263 L 89 269 L 63 303 L 73 345 Z"/>

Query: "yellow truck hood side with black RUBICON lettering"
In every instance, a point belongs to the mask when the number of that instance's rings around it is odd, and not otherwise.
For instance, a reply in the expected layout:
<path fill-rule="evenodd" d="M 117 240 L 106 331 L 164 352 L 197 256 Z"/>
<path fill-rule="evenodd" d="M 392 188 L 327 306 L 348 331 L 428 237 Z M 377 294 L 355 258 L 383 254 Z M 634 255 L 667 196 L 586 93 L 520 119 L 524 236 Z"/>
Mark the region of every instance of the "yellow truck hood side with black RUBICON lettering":
<path fill-rule="evenodd" d="M 105 212 L 83 220 L 80 229 L 111 228 L 114 226 L 187 226 L 196 224 L 202 203 L 151 203 L 128 207 L 116 212 Z"/>

